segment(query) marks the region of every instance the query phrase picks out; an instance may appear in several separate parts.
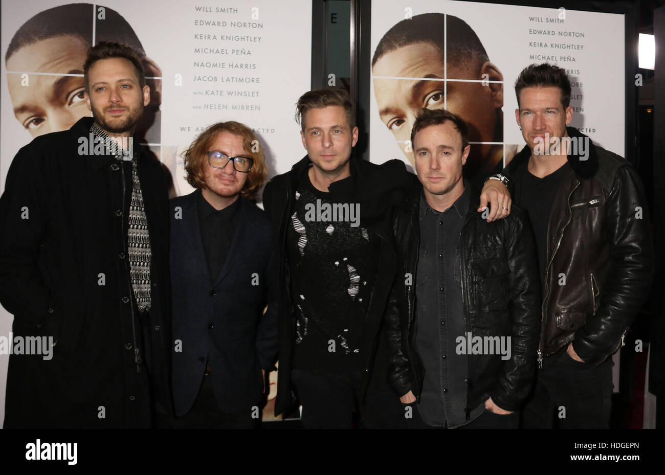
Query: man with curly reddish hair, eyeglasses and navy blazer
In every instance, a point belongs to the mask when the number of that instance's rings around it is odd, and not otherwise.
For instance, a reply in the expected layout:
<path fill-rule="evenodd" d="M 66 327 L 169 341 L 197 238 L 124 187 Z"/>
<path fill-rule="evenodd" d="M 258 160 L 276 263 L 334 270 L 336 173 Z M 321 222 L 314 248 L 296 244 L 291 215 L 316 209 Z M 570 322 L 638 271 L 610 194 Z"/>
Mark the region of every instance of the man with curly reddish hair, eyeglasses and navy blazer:
<path fill-rule="evenodd" d="M 269 219 L 253 199 L 263 147 L 247 126 L 209 126 L 185 152 L 194 193 L 171 200 L 177 428 L 253 428 L 277 355 Z M 267 311 L 263 312 L 265 306 Z"/>

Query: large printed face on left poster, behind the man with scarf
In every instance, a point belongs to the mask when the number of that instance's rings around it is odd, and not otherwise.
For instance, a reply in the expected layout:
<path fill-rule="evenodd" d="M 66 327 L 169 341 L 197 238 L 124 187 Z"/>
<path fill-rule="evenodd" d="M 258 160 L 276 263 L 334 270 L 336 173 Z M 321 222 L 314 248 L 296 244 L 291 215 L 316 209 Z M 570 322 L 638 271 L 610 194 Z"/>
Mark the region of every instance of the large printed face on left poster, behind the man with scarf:
<path fill-rule="evenodd" d="M 21 146 L 90 116 L 84 101 L 83 64 L 88 48 L 100 41 L 125 43 L 136 51 L 150 87 L 150 103 L 136 134 L 142 143 L 161 142 L 162 70 L 118 9 L 91 3 L 4 2 L 2 40 L 2 92 L 3 98 L 9 96 L 7 103 L 3 101 L 3 145 L 7 140 Z M 8 133 L 12 130 L 17 133 Z M 3 146 L 3 157 L 7 149 Z"/>

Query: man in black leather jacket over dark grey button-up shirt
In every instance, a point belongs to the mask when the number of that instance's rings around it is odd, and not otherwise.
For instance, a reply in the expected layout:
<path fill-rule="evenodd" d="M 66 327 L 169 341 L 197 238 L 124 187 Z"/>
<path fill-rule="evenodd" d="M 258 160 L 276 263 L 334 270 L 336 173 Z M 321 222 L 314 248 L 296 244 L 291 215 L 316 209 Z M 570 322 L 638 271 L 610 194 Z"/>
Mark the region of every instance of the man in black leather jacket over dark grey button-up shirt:
<path fill-rule="evenodd" d="M 418 403 L 405 407 L 412 427 L 516 428 L 540 331 L 531 225 L 517 207 L 493 223 L 477 211 L 462 179 L 469 145 L 459 116 L 421 110 L 411 140 L 422 185 L 394 217 L 390 385 L 402 403 Z"/>

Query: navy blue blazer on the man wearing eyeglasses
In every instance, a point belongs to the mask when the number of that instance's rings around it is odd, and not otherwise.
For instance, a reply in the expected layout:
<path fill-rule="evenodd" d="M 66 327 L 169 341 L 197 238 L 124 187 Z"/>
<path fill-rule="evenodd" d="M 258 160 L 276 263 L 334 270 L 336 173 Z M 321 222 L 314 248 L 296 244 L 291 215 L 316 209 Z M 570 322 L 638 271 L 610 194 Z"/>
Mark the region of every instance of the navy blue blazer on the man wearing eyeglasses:
<path fill-rule="evenodd" d="M 221 410 L 251 411 L 261 402 L 261 369 L 269 370 L 277 357 L 279 284 L 270 221 L 254 203 L 239 197 L 240 216 L 229 254 L 219 275 L 211 276 L 199 226 L 200 193 L 170 200 L 177 416 L 192 409 L 205 361 Z"/>

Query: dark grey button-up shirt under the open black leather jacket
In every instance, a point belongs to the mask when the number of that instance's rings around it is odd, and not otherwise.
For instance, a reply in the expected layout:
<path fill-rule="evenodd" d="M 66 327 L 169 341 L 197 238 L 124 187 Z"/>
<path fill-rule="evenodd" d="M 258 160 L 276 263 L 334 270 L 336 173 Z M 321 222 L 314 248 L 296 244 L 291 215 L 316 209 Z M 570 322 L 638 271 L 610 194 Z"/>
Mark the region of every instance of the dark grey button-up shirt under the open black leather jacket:
<path fill-rule="evenodd" d="M 454 428 L 479 416 L 483 405 L 466 420 L 466 355 L 455 351 L 456 339 L 466 336 L 460 257 L 460 233 L 469 209 L 469 183 L 446 211 L 432 209 L 420 198 L 420 248 L 416 268 L 416 351 L 425 379 L 418 409 L 431 426 Z"/>

